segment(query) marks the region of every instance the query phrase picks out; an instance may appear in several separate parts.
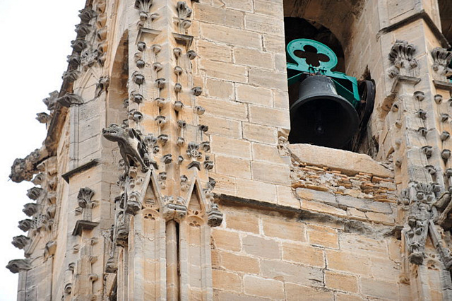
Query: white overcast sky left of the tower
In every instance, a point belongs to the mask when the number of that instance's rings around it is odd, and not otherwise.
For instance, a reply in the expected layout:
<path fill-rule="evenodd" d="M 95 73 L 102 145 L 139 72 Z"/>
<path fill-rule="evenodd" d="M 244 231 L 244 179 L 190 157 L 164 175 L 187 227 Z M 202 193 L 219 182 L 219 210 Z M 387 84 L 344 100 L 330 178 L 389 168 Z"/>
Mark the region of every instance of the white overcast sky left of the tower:
<path fill-rule="evenodd" d="M 46 131 L 36 113 L 46 112 L 42 99 L 61 87 L 84 5 L 85 0 L 0 0 L 0 300 L 16 300 L 18 274 L 5 266 L 24 258 L 11 241 L 24 234 L 17 225 L 27 218 L 22 209 L 30 202 L 26 192 L 33 186 L 8 181 L 8 175 L 15 158 L 42 146 Z"/>

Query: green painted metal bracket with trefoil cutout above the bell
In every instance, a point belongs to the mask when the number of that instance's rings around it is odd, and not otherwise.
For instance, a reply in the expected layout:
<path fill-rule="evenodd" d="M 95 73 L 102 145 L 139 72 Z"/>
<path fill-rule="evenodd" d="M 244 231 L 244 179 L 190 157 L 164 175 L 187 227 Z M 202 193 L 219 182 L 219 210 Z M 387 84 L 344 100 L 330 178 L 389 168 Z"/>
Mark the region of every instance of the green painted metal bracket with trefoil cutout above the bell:
<path fill-rule="evenodd" d="M 312 48 L 316 50 L 314 54 L 323 57 L 323 59 L 316 61 L 318 66 L 309 64 L 307 57 L 299 57 L 296 55 L 296 52 L 312 52 L 308 51 Z M 297 39 L 291 41 L 287 45 L 286 52 L 289 60 L 287 62 L 287 71 L 288 73 L 290 71 L 291 74 L 295 73 L 295 75 L 292 75 L 287 79 L 289 85 L 293 85 L 299 81 L 304 74 L 320 73 L 330 77 L 336 85 L 338 94 L 348 100 L 354 107 L 357 107 L 359 103 L 357 79 L 352 76 L 347 76 L 347 74 L 342 72 L 331 71 L 338 64 L 338 57 L 336 57 L 330 47 L 314 40 Z"/>

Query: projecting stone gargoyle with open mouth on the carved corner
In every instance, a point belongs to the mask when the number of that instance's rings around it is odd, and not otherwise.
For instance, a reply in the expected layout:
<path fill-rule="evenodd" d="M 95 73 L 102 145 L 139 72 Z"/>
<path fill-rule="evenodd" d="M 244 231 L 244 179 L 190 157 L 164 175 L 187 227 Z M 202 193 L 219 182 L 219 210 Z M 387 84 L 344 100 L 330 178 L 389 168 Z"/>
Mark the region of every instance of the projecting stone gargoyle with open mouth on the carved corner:
<path fill-rule="evenodd" d="M 126 163 L 126 174 L 131 166 L 141 165 L 141 170 L 147 172 L 152 164 L 157 169 L 157 163 L 149 158 L 148 148 L 143 142 L 141 134 L 135 129 L 126 128 L 119 124 L 110 124 L 102 129 L 102 135 L 109 141 L 117 142 L 119 152 Z"/>

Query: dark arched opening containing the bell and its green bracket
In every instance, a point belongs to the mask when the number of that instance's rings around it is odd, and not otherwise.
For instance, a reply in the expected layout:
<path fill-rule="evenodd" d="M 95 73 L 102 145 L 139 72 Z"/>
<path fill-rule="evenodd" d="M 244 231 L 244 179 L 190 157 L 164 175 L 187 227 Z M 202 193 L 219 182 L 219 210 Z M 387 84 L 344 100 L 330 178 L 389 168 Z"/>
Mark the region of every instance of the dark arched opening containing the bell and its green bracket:
<path fill-rule="evenodd" d="M 285 42 L 290 143 L 362 151 L 374 104 L 370 73 L 360 81 L 345 74 L 340 40 L 320 23 L 286 17 Z"/>

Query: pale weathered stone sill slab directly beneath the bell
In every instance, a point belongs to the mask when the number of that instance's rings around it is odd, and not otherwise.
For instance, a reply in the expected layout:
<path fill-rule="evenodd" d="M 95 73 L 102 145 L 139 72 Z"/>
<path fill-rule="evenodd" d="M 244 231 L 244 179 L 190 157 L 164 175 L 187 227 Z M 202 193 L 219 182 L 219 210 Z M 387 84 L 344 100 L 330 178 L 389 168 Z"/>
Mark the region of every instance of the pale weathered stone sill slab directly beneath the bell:
<path fill-rule="evenodd" d="M 295 155 L 300 163 L 329 167 L 339 170 L 345 175 L 356 175 L 365 172 L 378 177 L 393 177 L 393 172 L 380 165 L 369 155 L 353 153 L 350 151 L 313 146 L 311 144 L 290 144 L 289 150 Z"/>

